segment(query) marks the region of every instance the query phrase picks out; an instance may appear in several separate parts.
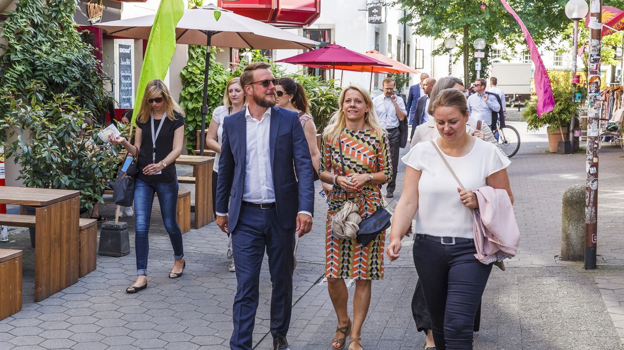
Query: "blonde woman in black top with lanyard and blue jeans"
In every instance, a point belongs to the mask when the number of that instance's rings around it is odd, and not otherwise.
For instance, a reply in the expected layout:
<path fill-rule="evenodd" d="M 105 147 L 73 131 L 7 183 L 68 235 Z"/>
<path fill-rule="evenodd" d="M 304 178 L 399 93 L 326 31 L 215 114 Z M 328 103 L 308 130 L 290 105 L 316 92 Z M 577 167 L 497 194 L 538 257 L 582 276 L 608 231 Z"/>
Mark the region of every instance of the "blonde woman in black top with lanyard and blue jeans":
<path fill-rule="evenodd" d="M 158 194 L 163 225 L 173 247 L 173 268 L 168 277 L 182 276 L 186 265 L 182 232 L 175 219 L 178 178 L 174 164 L 183 147 L 184 112 L 159 79 L 147 83 L 139 108 L 134 145 L 125 137 L 109 136 L 110 142 L 124 145 L 134 155 L 139 170 L 134 188 L 137 280 L 125 289 L 128 293 L 137 293 L 147 287 L 148 233 L 154 193 Z"/>

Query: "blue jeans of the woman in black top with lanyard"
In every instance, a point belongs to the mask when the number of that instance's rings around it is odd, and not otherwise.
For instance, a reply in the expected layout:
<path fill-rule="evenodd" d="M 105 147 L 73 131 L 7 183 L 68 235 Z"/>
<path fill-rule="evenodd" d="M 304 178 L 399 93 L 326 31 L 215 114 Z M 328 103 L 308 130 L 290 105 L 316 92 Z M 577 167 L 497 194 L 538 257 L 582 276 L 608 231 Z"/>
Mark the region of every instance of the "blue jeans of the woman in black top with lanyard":
<path fill-rule="evenodd" d="M 178 226 L 175 218 L 178 203 L 178 180 L 163 183 L 147 183 L 137 178 L 134 185 L 134 246 L 137 252 L 137 275 L 147 275 L 147 255 L 150 250 L 148 235 L 154 192 L 158 193 L 162 222 L 171 240 L 173 258 L 180 260 L 184 256 L 182 231 L 180 231 L 180 226 Z"/>

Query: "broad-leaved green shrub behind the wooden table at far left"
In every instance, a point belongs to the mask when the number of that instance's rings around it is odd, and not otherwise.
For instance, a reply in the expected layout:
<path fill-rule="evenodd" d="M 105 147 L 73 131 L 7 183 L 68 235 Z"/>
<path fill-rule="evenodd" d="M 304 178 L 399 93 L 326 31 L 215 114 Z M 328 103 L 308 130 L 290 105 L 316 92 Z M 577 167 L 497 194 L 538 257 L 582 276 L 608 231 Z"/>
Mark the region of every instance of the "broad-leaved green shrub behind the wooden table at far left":
<path fill-rule="evenodd" d="M 26 187 L 79 190 L 80 207 L 92 210 L 104 203 L 105 186 L 116 175 L 118 149 L 97 137 L 99 129 L 85 121 L 92 114 L 77 97 L 54 94 L 43 100 L 44 89 L 37 83 L 24 94 L 0 89 L 0 103 L 8 110 L 0 119 L 0 145 L 21 165 L 17 179 Z"/>

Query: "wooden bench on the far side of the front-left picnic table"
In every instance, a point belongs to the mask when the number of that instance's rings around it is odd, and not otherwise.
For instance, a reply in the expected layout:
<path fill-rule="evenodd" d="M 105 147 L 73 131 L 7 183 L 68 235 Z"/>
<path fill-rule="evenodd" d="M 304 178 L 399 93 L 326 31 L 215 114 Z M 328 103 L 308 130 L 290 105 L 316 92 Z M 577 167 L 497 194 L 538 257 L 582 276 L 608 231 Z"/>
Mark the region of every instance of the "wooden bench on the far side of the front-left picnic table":
<path fill-rule="evenodd" d="M 0 214 L 0 225 L 35 227 L 34 215 Z M 97 268 L 97 220 L 79 219 L 79 277 L 84 277 Z"/>

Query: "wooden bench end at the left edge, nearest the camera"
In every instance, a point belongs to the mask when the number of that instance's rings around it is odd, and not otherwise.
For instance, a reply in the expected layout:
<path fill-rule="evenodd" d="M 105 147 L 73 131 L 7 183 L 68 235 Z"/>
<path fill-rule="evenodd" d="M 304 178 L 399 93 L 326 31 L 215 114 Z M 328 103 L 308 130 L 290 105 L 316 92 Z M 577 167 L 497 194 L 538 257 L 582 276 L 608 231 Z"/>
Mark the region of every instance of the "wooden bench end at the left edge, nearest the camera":
<path fill-rule="evenodd" d="M 0 319 L 22 309 L 22 251 L 0 249 Z"/>

